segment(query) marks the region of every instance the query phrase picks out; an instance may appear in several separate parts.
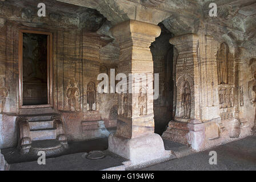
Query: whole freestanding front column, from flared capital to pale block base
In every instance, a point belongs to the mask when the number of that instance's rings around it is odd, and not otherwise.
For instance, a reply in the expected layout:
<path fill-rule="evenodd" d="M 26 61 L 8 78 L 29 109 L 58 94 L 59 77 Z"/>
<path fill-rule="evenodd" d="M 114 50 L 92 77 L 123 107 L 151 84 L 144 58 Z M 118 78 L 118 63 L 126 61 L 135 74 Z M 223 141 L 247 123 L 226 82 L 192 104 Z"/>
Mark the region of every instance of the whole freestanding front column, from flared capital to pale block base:
<path fill-rule="evenodd" d="M 109 137 L 109 150 L 130 159 L 132 163 L 143 163 L 149 160 L 170 156 L 165 151 L 163 140 L 154 134 L 153 111 L 153 58 L 150 44 L 161 34 L 161 28 L 153 24 L 128 20 L 111 28 L 112 35 L 121 48 L 118 72 L 145 73 L 142 82 L 147 82 L 147 93 L 135 85 L 130 90 L 138 89 L 139 93 L 121 93 L 118 96 L 117 133 Z M 128 79 L 127 79 L 128 80 Z M 151 88 L 151 89 L 150 89 Z"/>

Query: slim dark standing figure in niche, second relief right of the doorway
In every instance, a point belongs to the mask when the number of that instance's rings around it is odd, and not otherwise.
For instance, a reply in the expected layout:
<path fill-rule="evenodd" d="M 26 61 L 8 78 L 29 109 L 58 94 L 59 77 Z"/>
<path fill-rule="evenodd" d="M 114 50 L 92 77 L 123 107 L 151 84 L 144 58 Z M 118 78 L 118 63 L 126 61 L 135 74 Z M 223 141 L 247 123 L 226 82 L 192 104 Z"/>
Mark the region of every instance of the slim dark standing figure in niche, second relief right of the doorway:
<path fill-rule="evenodd" d="M 94 82 L 90 81 L 87 85 L 87 110 L 96 110 L 96 89 Z"/>

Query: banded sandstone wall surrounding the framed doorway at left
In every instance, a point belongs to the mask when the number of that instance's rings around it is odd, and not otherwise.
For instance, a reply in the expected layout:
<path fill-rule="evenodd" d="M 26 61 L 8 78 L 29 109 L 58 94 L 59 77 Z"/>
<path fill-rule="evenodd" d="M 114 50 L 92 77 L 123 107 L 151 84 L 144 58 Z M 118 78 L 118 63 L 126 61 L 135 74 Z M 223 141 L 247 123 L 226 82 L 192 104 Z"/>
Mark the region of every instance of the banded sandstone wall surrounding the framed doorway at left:
<path fill-rule="evenodd" d="M 101 73 L 101 66 L 107 67 L 109 71 L 116 66 L 115 46 L 102 49 L 100 53 L 100 49 L 109 42 L 94 33 L 106 19 L 95 10 L 73 5 L 67 7 L 64 3 L 55 4 L 56 2 L 52 1 L 45 2 L 48 7 L 46 17 L 39 18 L 38 2 L 33 1 L 31 5 L 26 1 L 0 2 L 0 78 L 1 89 L 7 90 L 8 93 L 0 115 L 0 148 L 14 147 L 17 144 L 15 119 L 20 114 L 19 30 L 53 33 L 53 107 L 55 113 L 62 114 L 69 142 L 83 140 L 82 121 L 103 119 L 107 127 L 115 126 L 114 114 L 110 114 L 111 109 L 115 113 L 115 94 L 97 94 L 93 115 L 88 114 L 87 104 L 89 82 L 93 82 L 97 89 L 97 76 Z M 56 6 L 60 7 L 58 12 L 55 12 Z M 113 57 L 106 57 L 111 55 L 113 50 Z M 79 90 L 76 111 L 74 104 L 70 107 L 67 98 L 67 90 L 72 81 Z"/>

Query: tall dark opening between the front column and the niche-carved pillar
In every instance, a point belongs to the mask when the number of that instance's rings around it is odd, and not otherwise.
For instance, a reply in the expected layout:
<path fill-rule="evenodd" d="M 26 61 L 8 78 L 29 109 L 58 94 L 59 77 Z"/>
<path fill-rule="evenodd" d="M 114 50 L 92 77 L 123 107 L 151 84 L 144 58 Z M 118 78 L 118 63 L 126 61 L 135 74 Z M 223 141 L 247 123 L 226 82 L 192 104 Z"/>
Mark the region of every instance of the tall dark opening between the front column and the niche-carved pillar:
<path fill-rule="evenodd" d="M 159 97 L 154 100 L 155 133 L 162 135 L 173 117 L 173 45 L 169 43 L 173 37 L 162 23 L 161 35 L 150 46 L 154 61 L 154 73 L 159 74 Z"/>

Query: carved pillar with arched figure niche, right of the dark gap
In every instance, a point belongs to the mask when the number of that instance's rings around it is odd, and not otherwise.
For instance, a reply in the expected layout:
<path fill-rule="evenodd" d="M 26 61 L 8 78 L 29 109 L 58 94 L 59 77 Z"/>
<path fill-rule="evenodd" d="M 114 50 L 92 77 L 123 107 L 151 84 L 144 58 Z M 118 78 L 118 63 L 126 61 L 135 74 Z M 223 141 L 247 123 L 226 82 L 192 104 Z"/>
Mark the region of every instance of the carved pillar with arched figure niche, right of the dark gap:
<path fill-rule="evenodd" d="M 170 39 L 178 50 L 176 113 L 162 137 L 201 150 L 205 139 L 218 138 L 219 101 L 215 42 L 205 34 Z M 214 131 L 206 133 L 204 122 Z"/>

